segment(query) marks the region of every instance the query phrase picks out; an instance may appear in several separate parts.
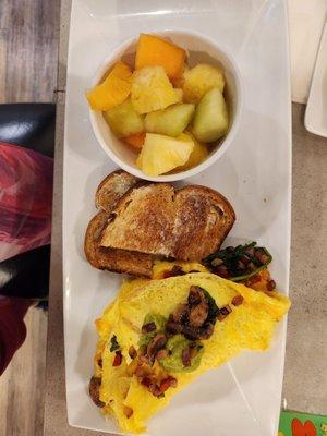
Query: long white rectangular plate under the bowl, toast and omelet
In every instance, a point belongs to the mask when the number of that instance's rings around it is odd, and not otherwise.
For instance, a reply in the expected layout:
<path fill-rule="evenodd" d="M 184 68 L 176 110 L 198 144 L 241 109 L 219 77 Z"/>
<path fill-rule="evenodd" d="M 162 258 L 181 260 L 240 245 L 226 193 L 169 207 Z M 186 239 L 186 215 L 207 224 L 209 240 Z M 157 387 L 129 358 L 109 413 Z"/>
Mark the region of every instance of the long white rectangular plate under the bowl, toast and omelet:
<path fill-rule="evenodd" d="M 162 4 L 162 7 L 161 7 Z M 208 171 L 187 183 L 217 189 L 238 221 L 228 243 L 269 247 L 278 288 L 288 292 L 291 205 L 290 77 L 282 0 L 73 0 L 64 137 L 63 267 L 68 413 L 71 425 L 118 433 L 87 395 L 96 344 L 94 319 L 114 298 L 118 275 L 89 266 L 84 233 L 98 183 L 114 169 L 97 144 L 85 89 L 110 50 L 140 32 L 195 29 L 237 58 L 245 90 L 234 143 Z M 243 353 L 202 376 L 148 423 L 153 436 L 276 436 L 286 322 L 266 353 Z M 142 399 L 141 399 L 142 401 Z"/>

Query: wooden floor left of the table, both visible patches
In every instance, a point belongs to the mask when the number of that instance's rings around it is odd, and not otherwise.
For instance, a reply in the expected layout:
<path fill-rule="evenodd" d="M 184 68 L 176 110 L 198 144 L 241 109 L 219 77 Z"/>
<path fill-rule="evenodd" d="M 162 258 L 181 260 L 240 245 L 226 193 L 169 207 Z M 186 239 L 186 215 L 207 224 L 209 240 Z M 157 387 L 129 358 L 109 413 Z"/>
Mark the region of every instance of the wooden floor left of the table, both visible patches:
<path fill-rule="evenodd" d="M 55 101 L 60 0 L 0 0 L 0 102 Z M 0 436 L 41 436 L 47 314 L 0 378 Z"/>

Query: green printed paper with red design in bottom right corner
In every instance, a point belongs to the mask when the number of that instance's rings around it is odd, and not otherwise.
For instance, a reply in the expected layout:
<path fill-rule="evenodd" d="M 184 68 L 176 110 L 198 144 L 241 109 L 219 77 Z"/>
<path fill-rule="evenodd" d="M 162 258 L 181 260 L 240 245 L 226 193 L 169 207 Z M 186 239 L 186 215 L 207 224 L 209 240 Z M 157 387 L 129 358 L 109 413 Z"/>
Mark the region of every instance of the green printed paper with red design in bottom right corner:
<path fill-rule="evenodd" d="M 327 436 L 327 416 L 281 412 L 278 436 Z"/>

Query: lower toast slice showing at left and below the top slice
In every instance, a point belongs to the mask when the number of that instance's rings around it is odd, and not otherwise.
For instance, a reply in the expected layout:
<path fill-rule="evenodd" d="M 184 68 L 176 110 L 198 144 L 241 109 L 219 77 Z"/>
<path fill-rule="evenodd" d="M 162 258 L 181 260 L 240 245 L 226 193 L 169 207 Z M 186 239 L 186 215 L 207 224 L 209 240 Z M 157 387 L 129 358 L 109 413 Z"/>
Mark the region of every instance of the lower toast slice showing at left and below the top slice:
<path fill-rule="evenodd" d="M 125 272 L 132 276 L 152 277 L 153 257 L 150 255 L 100 246 L 99 240 L 104 227 L 108 223 L 108 213 L 99 211 L 87 227 L 84 241 L 84 251 L 87 261 L 98 269 Z"/>

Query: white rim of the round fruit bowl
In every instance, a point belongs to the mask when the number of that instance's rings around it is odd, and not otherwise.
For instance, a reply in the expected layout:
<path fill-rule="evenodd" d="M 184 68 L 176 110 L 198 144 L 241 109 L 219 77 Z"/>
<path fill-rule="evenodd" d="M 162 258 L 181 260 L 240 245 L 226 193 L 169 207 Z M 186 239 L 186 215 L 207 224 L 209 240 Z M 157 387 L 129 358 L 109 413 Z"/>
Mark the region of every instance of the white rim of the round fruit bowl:
<path fill-rule="evenodd" d="M 189 29 L 158 29 L 157 32 L 152 32 L 154 35 L 160 35 L 160 36 L 169 36 L 169 35 L 187 35 L 190 37 L 196 37 L 197 39 L 202 39 L 205 43 L 208 43 L 209 45 L 213 46 L 214 49 L 221 51 L 223 56 L 228 59 L 230 65 L 232 66 L 232 74 L 234 76 L 234 82 L 235 82 L 235 88 L 237 88 L 237 95 L 238 95 L 238 100 L 235 105 L 235 110 L 234 110 L 234 116 L 233 116 L 233 122 L 230 128 L 230 130 L 227 133 L 227 136 L 222 140 L 221 145 L 209 156 L 207 157 L 202 164 L 197 165 L 194 168 L 190 168 L 186 171 L 181 171 L 177 172 L 173 174 L 161 174 L 158 177 L 152 177 L 145 174 L 143 171 L 141 171 L 138 168 L 131 167 L 129 164 L 120 159 L 111 149 L 111 147 L 107 144 L 107 142 L 104 140 L 102 135 L 99 132 L 98 125 L 97 125 L 97 114 L 98 111 L 94 111 L 88 107 L 88 112 L 89 112 L 89 118 L 90 118 L 90 124 L 92 129 L 94 132 L 94 135 L 96 136 L 97 142 L 100 144 L 101 148 L 104 152 L 110 157 L 111 160 L 113 160 L 114 164 L 117 164 L 121 169 L 128 171 L 129 173 L 137 177 L 138 179 L 144 179 L 147 181 L 153 181 L 153 182 L 177 182 L 180 180 L 184 180 L 187 178 L 191 178 L 193 175 L 196 175 L 203 171 L 205 171 L 207 168 L 209 168 L 213 164 L 215 164 L 228 149 L 230 144 L 232 143 L 233 138 L 235 137 L 235 134 L 239 130 L 240 123 L 241 123 L 241 116 L 243 111 L 243 100 L 244 100 L 244 93 L 243 93 L 243 84 L 242 84 L 242 76 L 240 73 L 240 69 L 234 60 L 234 57 L 230 53 L 223 45 L 218 45 L 215 40 L 213 40 L 210 37 L 195 31 L 189 31 Z M 121 44 L 117 45 L 111 53 L 104 59 L 104 61 L 99 64 L 98 69 L 96 70 L 96 73 L 92 80 L 92 86 L 96 86 L 99 82 L 99 80 L 104 76 L 106 71 L 108 71 L 108 68 L 110 64 L 114 61 L 114 59 L 119 56 L 122 55 L 131 44 L 136 43 L 140 34 L 134 35 L 128 39 L 124 39 Z M 222 63 L 222 62 L 221 62 Z"/>

